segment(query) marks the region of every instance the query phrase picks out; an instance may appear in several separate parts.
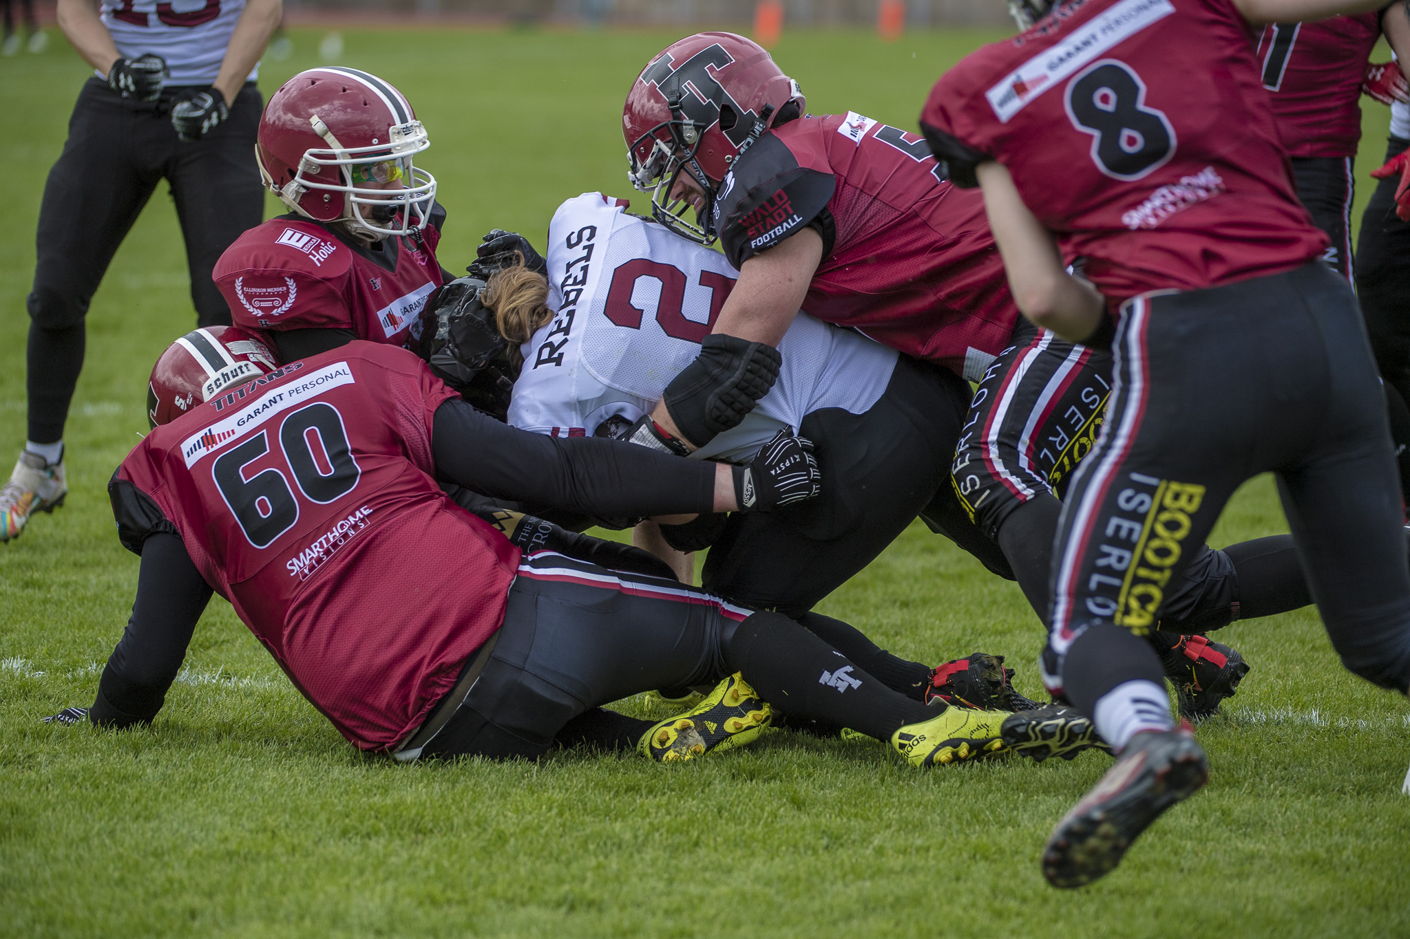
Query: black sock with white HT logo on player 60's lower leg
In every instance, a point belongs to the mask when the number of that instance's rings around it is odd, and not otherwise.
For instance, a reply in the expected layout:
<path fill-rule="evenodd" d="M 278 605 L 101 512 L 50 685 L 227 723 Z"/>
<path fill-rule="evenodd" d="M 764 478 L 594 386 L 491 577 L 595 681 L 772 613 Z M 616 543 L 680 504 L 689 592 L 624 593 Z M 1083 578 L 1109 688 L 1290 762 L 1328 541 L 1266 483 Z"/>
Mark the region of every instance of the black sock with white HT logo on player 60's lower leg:
<path fill-rule="evenodd" d="M 756 612 L 723 636 L 725 660 L 792 718 L 849 726 L 878 741 L 936 711 L 893 691 L 826 642 L 777 612 Z"/>

